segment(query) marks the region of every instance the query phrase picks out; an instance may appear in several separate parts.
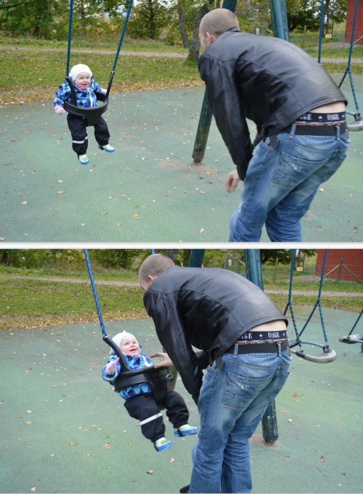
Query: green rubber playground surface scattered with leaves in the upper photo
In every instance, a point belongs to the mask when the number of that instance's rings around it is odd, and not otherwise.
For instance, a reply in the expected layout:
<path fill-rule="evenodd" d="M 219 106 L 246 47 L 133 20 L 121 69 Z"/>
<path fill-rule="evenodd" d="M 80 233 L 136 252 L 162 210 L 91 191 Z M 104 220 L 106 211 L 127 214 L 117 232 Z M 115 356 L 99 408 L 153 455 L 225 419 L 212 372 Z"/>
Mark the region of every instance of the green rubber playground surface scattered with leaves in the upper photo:
<path fill-rule="evenodd" d="M 354 76 L 354 89 L 363 105 L 363 76 Z M 343 91 L 353 111 L 349 81 Z M 192 158 L 203 96 L 204 86 L 112 95 L 104 116 L 116 151 L 100 151 L 89 128 L 87 166 L 73 152 L 66 117 L 54 114 L 52 101 L 0 108 L 0 238 L 227 242 L 243 185 L 225 191 L 234 165 L 214 120 L 203 161 Z M 363 241 L 363 132 L 350 137 L 343 166 L 302 219 L 306 242 Z M 261 240 L 268 241 L 265 232 Z"/>

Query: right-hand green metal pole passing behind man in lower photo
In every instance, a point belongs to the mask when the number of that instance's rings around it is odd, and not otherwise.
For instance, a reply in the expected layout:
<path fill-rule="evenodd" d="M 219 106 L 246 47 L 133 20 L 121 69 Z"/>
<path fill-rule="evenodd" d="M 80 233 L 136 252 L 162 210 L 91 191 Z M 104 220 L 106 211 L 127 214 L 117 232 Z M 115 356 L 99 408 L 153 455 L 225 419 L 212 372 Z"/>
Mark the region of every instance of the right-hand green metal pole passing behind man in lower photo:
<path fill-rule="evenodd" d="M 263 276 L 260 251 L 258 249 L 245 250 L 247 278 L 263 290 Z M 275 400 L 268 405 L 261 420 L 262 435 L 266 442 L 276 441 L 278 438 Z"/>

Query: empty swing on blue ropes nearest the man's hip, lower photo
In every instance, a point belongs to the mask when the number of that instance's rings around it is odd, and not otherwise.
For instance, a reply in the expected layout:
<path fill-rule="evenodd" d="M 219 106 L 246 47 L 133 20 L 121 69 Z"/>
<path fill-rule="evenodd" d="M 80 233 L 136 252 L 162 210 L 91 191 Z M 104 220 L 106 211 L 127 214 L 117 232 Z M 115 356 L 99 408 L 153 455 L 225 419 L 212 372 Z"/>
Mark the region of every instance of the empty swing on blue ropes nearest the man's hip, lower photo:
<path fill-rule="evenodd" d="M 326 330 L 325 330 L 325 323 L 324 323 L 324 317 L 323 317 L 323 310 L 322 310 L 322 306 L 321 306 L 321 292 L 322 292 L 322 287 L 323 287 L 323 279 L 324 279 L 324 270 L 325 270 L 325 263 L 326 263 L 326 257 L 327 257 L 327 249 L 325 249 L 325 251 L 324 251 L 324 259 L 323 259 L 323 265 L 322 265 L 322 271 L 321 271 L 321 277 L 320 277 L 318 297 L 317 297 L 317 300 L 316 300 L 315 305 L 313 307 L 313 310 L 310 313 L 310 316 L 308 317 L 307 321 L 305 322 L 305 324 L 302 327 L 302 330 L 300 332 L 298 332 L 298 330 L 297 330 L 296 319 L 295 319 L 295 316 L 294 316 L 294 313 L 293 313 L 292 303 L 291 303 L 292 279 L 293 279 L 293 271 L 294 271 L 294 263 L 295 263 L 295 253 L 296 253 L 295 249 L 292 249 L 292 252 L 291 252 L 291 267 L 290 267 L 289 295 L 288 295 L 288 301 L 287 301 L 287 304 L 286 304 L 286 307 L 285 307 L 285 310 L 284 310 L 284 315 L 286 315 L 287 309 L 290 309 L 291 319 L 292 319 L 293 327 L 294 327 L 294 330 L 295 330 L 296 339 L 293 340 L 293 341 L 289 341 L 291 352 L 294 353 L 294 354 L 296 354 L 298 357 L 302 357 L 302 358 L 304 358 L 306 360 L 309 360 L 310 362 L 316 362 L 316 363 L 328 363 L 328 362 L 332 362 L 333 360 L 336 359 L 336 352 L 333 349 L 331 349 L 329 347 L 329 344 L 328 344 L 328 338 L 327 338 L 327 334 L 326 334 Z M 309 324 L 309 322 L 310 322 L 310 320 L 311 320 L 311 318 L 312 318 L 312 316 L 313 316 L 313 314 L 315 312 L 315 309 L 317 307 L 319 307 L 320 321 L 321 321 L 321 324 L 322 324 L 325 345 L 323 345 L 321 343 L 315 343 L 315 342 L 311 342 L 311 341 L 301 340 L 301 338 L 300 338 L 301 335 L 302 335 L 302 333 L 304 332 L 305 328 Z M 322 353 L 321 355 L 318 355 L 318 356 L 307 354 L 302 349 L 302 344 L 307 344 L 307 345 L 313 345 L 313 346 L 320 347 L 320 348 L 323 349 L 323 352 L 324 353 Z M 299 346 L 299 350 L 298 351 L 297 350 L 292 350 L 292 348 L 295 347 L 295 346 L 297 346 L 297 345 Z"/>

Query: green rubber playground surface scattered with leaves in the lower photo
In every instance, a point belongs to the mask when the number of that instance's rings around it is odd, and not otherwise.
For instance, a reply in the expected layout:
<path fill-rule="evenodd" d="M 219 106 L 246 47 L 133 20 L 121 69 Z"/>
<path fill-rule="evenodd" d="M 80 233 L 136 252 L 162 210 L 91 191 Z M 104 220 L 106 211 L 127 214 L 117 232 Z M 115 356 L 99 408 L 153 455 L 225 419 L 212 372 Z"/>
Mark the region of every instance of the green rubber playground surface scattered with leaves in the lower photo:
<path fill-rule="evenodd" d="M 294 307 L 299 328 L 312 307 Z M 324 309 L 337 358 L 316 364 L 292 357 L 276 400 L 278 440 L 266 446 L 261 426 L 251 440 L 253 492 L 362 492 L 363 394 L 360 345 L 346 345 L 357 314 Z M 151 319 L 105 322 L 108 335 L 126 330 L 143 349 L 160 351 Z M 357 333 L 363 333 L 361 324 Z M 289 338 L 294 336 L 290 324 Z M 323 343 L 319 316 L 304 339 Z M 176 438 L 157 453 L 123 400 L 102 380 L 107 359 L 98 323 L 0 332 L 2 492 L 178 492 L 190 480 L 196 436 Z M 306 353 L 320 353 L 305 347 Z M 180 379 L 190 423 L 198 411 Z M 165 412 L 163 412 L 165 413 Z"/>

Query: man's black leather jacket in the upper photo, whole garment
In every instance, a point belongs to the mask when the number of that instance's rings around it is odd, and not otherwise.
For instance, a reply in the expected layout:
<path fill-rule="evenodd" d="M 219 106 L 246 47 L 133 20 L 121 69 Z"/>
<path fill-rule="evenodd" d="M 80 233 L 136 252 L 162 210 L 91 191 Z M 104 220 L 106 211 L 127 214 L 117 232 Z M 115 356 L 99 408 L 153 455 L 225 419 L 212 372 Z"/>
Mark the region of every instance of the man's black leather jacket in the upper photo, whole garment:
<path fill-rule="evenodd" d="M 279 38 L 231 28 L 198 60 L 217 127 L 244 180 L 253 145 L 246 118 L 259 138 L 278 133 L 309 110 L 347 100 L 323 67 Z"/>

